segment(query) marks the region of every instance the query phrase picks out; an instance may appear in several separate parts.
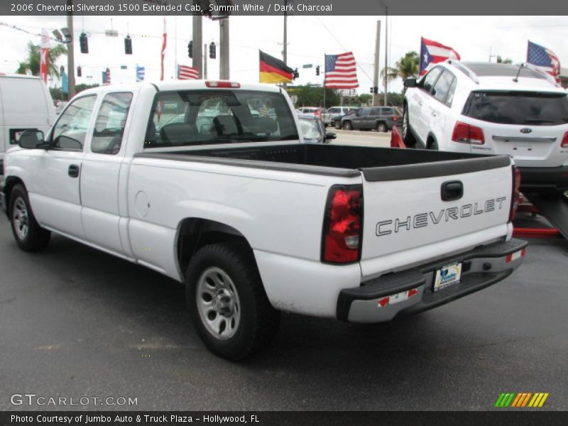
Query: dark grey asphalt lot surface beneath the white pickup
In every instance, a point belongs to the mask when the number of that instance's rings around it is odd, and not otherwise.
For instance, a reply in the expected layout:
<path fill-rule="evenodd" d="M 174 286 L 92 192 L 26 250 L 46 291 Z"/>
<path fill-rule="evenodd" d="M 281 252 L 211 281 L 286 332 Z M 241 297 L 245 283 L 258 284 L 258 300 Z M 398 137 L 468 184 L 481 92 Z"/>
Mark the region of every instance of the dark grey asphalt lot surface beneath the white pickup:
<path fill-rule="evenodd" d="M 0 410 L 11 395 L 137 398 L 136 410 L 490 410 L 501 392 L 568 409 L 568 241 L 532 240 L 502 283 L 387 324 L 283 315 L 256 358 L 204 348 L 182 286 L 60 236 L 18 250 L 0 218 Z"/>

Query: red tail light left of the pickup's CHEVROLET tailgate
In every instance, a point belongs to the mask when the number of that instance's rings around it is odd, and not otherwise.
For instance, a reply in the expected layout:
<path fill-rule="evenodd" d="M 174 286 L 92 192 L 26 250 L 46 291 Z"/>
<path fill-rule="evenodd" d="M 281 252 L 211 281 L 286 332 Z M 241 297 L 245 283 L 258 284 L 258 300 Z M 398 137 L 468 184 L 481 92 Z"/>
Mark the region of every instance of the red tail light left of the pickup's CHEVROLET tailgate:
<path fill-rule="evenodd" d="M 351 263 L 361 255 L 363 187 L 335 185 L 329 190 L 322 236 L 322 261 Z"/>

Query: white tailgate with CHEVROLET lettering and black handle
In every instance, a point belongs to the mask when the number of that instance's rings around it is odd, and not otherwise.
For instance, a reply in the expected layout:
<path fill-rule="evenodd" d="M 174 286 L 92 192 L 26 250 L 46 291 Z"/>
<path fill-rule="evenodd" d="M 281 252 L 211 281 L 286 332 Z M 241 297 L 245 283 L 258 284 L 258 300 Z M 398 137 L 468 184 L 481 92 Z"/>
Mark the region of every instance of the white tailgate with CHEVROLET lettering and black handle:
<path fill-rule="evenodd" d="M 424 262 L 508 233 L 506 156 L 361 169 L 364 276 Z"/>

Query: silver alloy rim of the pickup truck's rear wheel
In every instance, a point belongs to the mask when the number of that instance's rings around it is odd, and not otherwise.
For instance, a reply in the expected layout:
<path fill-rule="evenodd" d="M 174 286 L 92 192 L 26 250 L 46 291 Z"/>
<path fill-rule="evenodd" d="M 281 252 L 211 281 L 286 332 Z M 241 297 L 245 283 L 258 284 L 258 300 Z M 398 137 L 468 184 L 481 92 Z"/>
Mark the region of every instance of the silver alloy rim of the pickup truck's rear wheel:
<path fill-rule="evenodd" d="M 209 334 L 231 339 L 241 322 L 241 301 L 231 277 L 221 268 L 207 268 L 197 280 L 197 310 Z"/>

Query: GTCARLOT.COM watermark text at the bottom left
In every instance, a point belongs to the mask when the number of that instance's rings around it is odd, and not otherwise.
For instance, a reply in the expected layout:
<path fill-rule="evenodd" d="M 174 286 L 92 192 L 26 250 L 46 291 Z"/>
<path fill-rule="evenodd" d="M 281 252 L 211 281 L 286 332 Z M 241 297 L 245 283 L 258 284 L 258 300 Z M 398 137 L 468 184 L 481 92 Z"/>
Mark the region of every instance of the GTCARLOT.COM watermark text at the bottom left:
<path fill-rule="evenodd" d="M 131 406 L 138 405 L 138 398 L 130 396 L 45 396 L 35 393 L 14 393 L 10 397 L 12 405 L 24 405 L 33 407 L 75 407 L 75 406 Z"/>

